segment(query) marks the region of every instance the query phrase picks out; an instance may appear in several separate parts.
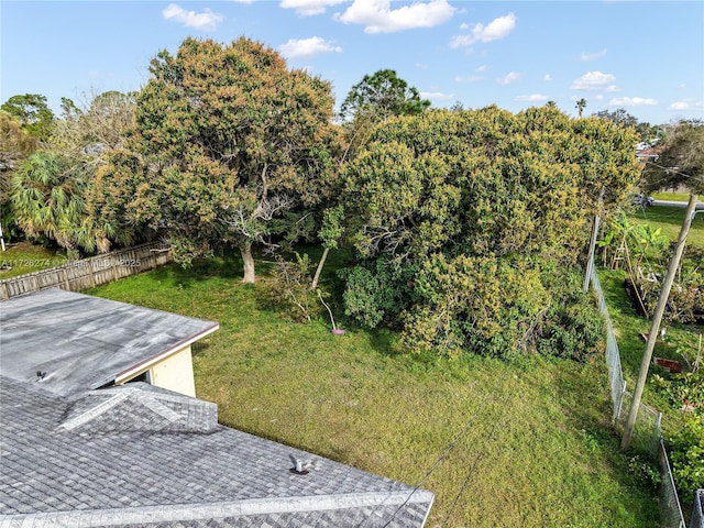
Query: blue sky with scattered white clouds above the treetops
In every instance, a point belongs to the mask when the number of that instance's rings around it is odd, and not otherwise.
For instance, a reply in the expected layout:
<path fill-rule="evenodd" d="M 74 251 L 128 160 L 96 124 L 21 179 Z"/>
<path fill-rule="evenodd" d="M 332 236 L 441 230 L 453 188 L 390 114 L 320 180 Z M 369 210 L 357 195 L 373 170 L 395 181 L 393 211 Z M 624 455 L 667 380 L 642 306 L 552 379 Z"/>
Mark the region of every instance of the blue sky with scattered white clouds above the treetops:
<path fill-rule="evenodd" d="M 576 116 L 704 118 L 702 1 L 200 0 L 0 2 L 0 102 L 139 90 L 187 36 L 261 41 L 329 80 L 338 105 L 391 68 L 436 107 L 556 101 Z"/>

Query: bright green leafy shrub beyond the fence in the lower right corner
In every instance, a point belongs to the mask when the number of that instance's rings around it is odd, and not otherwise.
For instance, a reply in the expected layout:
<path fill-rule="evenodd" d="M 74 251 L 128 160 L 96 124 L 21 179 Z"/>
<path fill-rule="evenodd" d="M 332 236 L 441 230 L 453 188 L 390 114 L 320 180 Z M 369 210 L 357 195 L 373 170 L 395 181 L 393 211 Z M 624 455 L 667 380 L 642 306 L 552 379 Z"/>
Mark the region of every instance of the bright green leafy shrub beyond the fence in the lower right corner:
<path fill-rule="evenodd" d="M 704 416 L 686 416 L 682 429 L 668 443 L 680 497 L 692 504 L 696 490 L 704 488 Z"/>

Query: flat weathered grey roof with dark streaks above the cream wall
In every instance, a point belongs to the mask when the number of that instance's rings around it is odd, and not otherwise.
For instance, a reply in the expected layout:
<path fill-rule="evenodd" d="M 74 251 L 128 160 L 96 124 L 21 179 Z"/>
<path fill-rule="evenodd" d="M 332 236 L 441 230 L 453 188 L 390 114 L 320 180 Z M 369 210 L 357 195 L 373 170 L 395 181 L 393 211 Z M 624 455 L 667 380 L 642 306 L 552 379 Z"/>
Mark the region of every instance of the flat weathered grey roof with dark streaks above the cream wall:
<path fill-rule="evenodd" d="M 1 302 L 0 324 L 3 375 L 32 382 L 41 371 L 45 388 L 65 396 L 111 383 L 127 369 L 219 328 L 58 288 Z"/>

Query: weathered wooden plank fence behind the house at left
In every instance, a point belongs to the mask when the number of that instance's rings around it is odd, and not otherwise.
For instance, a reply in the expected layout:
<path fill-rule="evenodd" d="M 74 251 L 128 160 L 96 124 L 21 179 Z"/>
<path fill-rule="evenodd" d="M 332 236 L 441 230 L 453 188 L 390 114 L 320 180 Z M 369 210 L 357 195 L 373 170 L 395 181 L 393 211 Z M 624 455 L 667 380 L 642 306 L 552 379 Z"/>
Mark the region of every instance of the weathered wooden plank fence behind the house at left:
<path fill-rule="evenodd" d="M 119 278 L 154 270 L 170 262 L 170 252 L 161 242 L 136 245 L 125 250 L 69 261 L 51 270 L 42 270 L 19 277 L 0 280 L 0 299 L 59 287 L 82 292 Z"/>

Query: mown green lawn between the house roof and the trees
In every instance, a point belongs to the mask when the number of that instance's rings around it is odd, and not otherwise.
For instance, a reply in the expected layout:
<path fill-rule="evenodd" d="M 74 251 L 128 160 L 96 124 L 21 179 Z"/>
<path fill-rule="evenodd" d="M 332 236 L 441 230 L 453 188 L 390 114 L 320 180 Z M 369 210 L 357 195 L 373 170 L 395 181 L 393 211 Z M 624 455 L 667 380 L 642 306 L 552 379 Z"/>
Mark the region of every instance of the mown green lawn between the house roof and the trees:
<path fill-rule="evenodd" d="M 610 429 L 603 359 L 410 358 L 394 333 L 342 317 L 344 336 L 327 318 L 282 319 L 260 302 L 262 283 L 240 283 L 240 266 L 224 254 L 90 293 L 219 321 L 194 367 L 221 422 L 421 484 L 437 497 L 428 527 L 658 526 L 654 492 Z"/>

